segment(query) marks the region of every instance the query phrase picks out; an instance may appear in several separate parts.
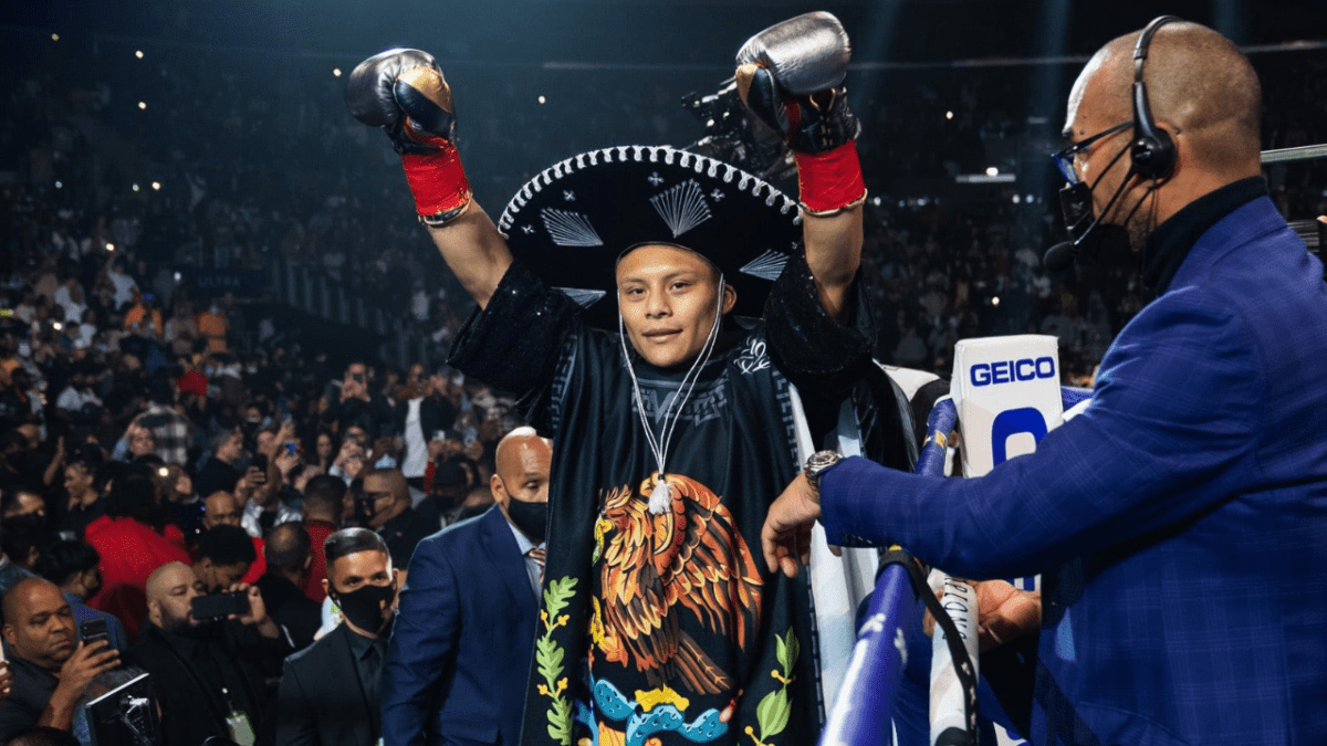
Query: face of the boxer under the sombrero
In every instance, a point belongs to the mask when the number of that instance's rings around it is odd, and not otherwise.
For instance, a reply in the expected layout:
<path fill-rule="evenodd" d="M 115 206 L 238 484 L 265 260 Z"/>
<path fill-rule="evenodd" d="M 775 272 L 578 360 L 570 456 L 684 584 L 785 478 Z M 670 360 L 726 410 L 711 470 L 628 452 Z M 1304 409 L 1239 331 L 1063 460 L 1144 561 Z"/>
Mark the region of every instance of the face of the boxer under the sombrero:
<path fill-rule="evenodd" d="M 649 244 L 617 263 L 617 303 L 636 352 L 650 365 L 673 368 L 695 360 L 714 327 L 718 272 L 701 255 Z M 736 293 L 725 287 L 723 313 Z"/>

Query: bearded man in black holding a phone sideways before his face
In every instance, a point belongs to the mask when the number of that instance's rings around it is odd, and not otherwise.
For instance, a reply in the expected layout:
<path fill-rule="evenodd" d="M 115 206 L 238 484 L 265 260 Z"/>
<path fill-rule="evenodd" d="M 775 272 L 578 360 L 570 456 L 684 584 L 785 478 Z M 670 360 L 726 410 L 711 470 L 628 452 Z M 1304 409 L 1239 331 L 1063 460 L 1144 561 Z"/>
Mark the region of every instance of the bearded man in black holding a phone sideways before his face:
<path fill-rule="evenodd" d="M 236 583 L 210 596 L 188 565 L 167 563 L 147 579 L 147 609 L 129 657 L 161 694 L 162 743 L 239 741 L 245 729 L 268 742 L 265 680 L 280 674 L 291 648 L 257 587 Z"/>

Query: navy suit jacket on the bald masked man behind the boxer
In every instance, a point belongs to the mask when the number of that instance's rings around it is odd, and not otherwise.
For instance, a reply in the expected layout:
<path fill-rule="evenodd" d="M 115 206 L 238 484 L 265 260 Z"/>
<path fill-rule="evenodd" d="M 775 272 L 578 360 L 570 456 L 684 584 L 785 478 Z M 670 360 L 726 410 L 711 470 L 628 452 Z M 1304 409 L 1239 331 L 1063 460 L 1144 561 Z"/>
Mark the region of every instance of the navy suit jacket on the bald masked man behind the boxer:
<path fill-rule="evenodd" d="M 384 743 L 516 743 L 536 608 L 496 507 L 419 542 L 384 669 Z"/>

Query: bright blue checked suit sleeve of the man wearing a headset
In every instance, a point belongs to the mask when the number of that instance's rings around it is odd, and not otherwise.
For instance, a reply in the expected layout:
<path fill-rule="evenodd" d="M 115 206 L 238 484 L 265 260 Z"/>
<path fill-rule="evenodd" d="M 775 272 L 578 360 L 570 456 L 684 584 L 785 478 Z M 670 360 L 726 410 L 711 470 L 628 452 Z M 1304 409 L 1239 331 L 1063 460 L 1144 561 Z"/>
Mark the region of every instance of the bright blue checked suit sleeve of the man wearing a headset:
<path fill-rule="evenodd" d="M 1173 527 L 1259 473 L 1265 390 L 1230 305 L 1200 291 L 1148 307 L 1101 362 L 1092 404 L 1035 453 L 975 479 L 924 478 L 861 458 L 824 478 L 831 543 L 898 543 L 974 579 L 1032 575 Z"/>

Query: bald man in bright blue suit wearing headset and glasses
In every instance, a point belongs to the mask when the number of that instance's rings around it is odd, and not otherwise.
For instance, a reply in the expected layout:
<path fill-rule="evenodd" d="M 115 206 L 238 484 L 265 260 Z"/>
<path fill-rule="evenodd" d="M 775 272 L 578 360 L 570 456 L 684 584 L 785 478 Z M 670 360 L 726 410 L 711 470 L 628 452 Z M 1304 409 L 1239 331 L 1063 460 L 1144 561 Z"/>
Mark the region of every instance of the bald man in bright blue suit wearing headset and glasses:
<path fill-rule="evenodd" d="M 1097 52 L 1060 154 L 1097 230 L 1071 232 L 1132 247 L 1157 297 L 1091 405 L 978 479 L 817 454 L 770 510 L 784 572 L 819 516 L 831 543 L 955 575 L 1044 573 L 1022 599 L 1035 743 L 1327 743 L 1327 288 L 1267 198 L 1259 109 L 1204 27 L 1158 19 Z"/>

